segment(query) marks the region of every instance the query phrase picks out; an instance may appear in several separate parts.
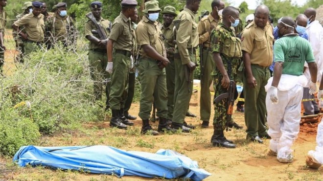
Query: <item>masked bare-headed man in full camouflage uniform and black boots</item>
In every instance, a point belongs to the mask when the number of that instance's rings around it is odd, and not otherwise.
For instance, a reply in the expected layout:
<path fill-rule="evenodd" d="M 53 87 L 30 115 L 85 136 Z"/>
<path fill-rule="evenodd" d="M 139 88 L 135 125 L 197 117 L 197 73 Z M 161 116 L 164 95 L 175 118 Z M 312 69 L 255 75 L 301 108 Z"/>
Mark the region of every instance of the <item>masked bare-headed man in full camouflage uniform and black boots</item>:
<path fill-rule="evenodd" d="M 223 9 L 222 23 L 211 33 L 211 51 L 215 69 L 213 74 L 214 96 L 228 91 L 230 80 L 235 80 L 242 57 L 240 39 L 235 37 L 233 28 L 239 24 L 239 11 L 228 6 Z M 233 52 L 233 53 L 232 53 Z M 213 146 L 235 148 L 232 141 L 226 139 L 223 130 L 227 120 L 226 99 L 214 104 L 214 133 L 211 138 Z"/>

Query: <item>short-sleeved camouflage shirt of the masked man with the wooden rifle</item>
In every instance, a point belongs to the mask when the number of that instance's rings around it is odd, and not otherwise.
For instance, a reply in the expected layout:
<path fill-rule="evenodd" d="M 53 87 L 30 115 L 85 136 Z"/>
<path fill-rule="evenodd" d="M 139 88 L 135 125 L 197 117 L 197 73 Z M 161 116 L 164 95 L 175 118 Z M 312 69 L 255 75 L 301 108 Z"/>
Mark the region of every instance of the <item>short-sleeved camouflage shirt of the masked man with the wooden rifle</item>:
<path fill-rule="evenodd" d="M 228 66 L 229 68 L 231 66 L 231 75 L 229 75 L 229 77 L 235 79 L 235 75 L 237 74 L 237 69 L 240 64 L 240 59 L 230 58 L 223 54 L 223 52 L 226 51 L 226 48 L 228 48 L 229 46 L 227 42 L 228 40 L 231 39 L 231 37 L 235 38 L 234 31 L 231 28 L 225 27 L 223 23 L 219 23 L 219 25 L 216 28 L 214 28 L 211 32 L 211 48 L 212 48 L 212 53 L 214 52 L 220 53 L 223 65 L 228 72 L 229 72 Z M 221 72 L 215 66 L 215 69 L 212 75 L 219 75 L 219 74 L 221 74 Z"/>

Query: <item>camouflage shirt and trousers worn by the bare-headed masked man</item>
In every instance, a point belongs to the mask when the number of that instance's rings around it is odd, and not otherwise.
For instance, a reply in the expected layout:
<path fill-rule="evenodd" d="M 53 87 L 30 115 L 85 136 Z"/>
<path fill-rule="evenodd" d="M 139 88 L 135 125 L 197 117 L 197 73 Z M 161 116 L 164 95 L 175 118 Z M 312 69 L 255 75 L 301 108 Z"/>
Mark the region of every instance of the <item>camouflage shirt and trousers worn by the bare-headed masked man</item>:
<path fill-rule="evenodd" d="M 224 54 L 224 52 L 229 51 L 228 45 L 231 38 L 234 37 L 234 31 L 231 28 L 227 28 L 223 25 L 223 23 L 219 23 L 219 25 L 212 30 L 211 32 L 211 48 L 212 52 L 220 53 L 222 58 L 222 62 L 224 67 L 228 72 L 228 76 L 230 80 L 235 80 L 237 77 L 237 69 L 240 65 L 239 58 L 231 58 Z M 239 39 L 236 39 L 239 41 Z M 239 49 L 241 52 L 241 48 Z M 213 87 L 214 87 L 214 96 L 218 96 L 222 93 L 228 92 L 221 86 L 222 74 L 219 69 L 215 66 L 213 75 Z M 237 94 L 235 95 L 235 97 Z M 226 126 L 227 119 L 227 109 L 226 109 L 226 100 L 221 100 L 218 104 L 214 104 L 214 119 L 213 125 L 216 130 L 224 130 Z"/>

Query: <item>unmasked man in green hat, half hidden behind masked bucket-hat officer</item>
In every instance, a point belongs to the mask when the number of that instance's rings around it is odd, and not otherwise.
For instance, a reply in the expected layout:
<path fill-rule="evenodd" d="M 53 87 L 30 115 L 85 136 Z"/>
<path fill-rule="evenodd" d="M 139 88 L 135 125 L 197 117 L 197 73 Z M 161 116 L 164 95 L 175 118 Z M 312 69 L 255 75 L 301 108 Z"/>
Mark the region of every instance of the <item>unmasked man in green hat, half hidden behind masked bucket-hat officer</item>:
<path fill-rule="evenodd" d="M 161 12 L 164 22 L 161 24 L 161 32 L 164 35 L 164 45 L 166 47 L 167 59 L 169 60 L 166 70 L 166 85 L 167 85 L 167 120 L 172 120 L 174 110 L 174 91 L 175 91 L 175 62 L 174 53 L 176 40 L 174 39 L 173 20 L 177 16 L 176 9 L 173 6 L 165 6 Z"/>

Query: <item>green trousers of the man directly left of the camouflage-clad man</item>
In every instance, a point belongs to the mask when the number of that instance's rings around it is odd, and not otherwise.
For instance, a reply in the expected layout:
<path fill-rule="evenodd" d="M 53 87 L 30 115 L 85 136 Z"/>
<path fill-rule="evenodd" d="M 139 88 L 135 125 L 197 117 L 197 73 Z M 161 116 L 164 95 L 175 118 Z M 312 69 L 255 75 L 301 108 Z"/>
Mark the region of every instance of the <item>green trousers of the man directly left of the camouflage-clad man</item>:
<path fill-rule="evenodd" d="M 203 76 L 201 79 L 200 116 L 202 121 L 209 121 L 211 116 L 211 72 L 214 69 L 213 54 L 211 50 L 203 49 Z"/>

